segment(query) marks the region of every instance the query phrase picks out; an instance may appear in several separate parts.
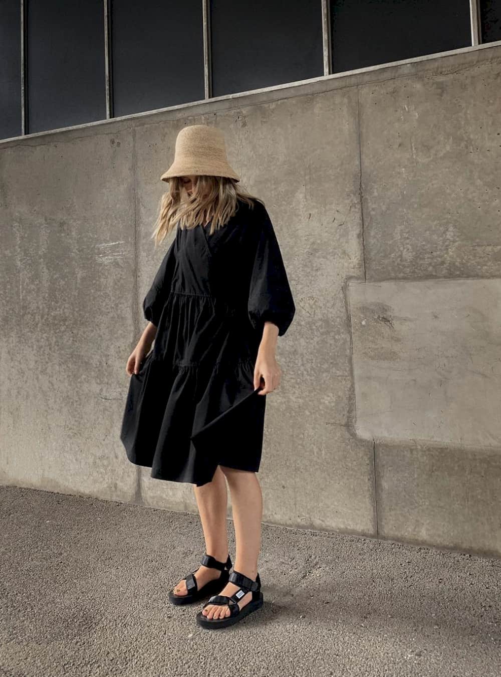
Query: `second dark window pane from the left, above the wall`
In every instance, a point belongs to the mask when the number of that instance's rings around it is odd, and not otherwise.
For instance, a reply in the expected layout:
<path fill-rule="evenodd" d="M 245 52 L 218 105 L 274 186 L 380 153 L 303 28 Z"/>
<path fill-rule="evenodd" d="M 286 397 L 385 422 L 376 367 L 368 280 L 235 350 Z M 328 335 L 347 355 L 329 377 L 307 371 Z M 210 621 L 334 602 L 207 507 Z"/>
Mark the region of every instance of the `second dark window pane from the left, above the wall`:
<path fill-rule="evenodd" d="M 28 133 L 103 120 L 103 1 L 26 4 Z"/>

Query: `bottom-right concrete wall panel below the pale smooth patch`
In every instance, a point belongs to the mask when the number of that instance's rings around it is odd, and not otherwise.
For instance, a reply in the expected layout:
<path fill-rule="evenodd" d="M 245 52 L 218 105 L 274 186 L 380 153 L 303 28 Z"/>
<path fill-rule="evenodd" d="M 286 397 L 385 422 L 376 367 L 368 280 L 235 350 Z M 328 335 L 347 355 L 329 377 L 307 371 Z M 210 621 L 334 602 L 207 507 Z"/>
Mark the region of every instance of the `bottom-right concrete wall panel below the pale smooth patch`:
<path fill-rule="evenodd" d="M 376 444 L 379 538 L 501 555 L 501 455 Z"/>

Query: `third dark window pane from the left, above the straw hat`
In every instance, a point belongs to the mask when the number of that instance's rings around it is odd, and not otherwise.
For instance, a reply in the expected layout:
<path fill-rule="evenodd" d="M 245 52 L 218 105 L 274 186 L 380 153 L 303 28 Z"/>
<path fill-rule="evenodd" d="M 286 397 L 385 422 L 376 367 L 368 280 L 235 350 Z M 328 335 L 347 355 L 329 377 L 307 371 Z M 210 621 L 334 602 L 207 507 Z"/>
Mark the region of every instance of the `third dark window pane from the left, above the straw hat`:
<path fill-rule="evenodd" d="M 112 2 L 114 116 L 204 99 L 200 0 Z"/>

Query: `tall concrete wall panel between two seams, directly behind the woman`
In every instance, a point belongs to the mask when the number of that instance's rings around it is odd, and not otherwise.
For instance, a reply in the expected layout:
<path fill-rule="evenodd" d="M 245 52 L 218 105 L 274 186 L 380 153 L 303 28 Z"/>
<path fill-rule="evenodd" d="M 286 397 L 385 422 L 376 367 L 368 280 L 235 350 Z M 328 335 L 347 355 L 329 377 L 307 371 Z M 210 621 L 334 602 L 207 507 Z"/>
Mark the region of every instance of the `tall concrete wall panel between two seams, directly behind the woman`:
<path fill-rule="evenodd" d="M 140 287 L 146 290 L 168 246 L 153 252 L 150 236 L 165 190 L 160 175 L 174 157 L 176 135 L 185 124 L 216 124 L 241 184 L 264 198 L 297 306 L 277 349 L 281 387 L 266 403 L 260 470 L 264 519 L 375 533 L 372 445 L 368 467 L 366 443 L 336 428 L 349 424 L 353 410 L 343 284 L 363 274 L 356 121 L 356 90 L 345 89 L 335 97 L 285 99 L 225 110 L 216 119 L 204 114 L 135 129 L 138 261 Z M 313 455 L 318 460 L 309 467 Z M 296 466 L 301 470 L 294 471 Z M 310 504 L 318 483 L 325 487 L 322 498 Z M 357 496 L 353 505 L 342 490 L 348 486 Z M 141 496 L 149 506 L 197 509 L 191 487 L 151 481 L 147 472 L 141 474 Z"/>

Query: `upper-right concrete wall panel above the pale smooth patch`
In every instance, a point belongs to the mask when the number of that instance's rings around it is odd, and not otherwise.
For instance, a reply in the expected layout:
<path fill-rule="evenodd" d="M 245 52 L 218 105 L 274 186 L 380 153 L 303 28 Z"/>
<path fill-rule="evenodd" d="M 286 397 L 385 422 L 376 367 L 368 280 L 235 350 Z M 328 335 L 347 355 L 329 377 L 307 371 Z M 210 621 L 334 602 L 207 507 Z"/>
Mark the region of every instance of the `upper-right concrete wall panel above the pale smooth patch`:
<path fill-rule="evenodd" d="M 359 88 L 366 280 L 500 276 L 501 60 L 437 71 Z"/>

